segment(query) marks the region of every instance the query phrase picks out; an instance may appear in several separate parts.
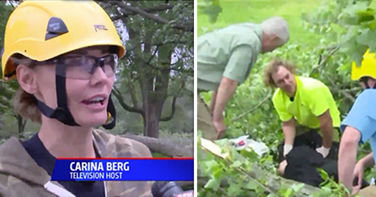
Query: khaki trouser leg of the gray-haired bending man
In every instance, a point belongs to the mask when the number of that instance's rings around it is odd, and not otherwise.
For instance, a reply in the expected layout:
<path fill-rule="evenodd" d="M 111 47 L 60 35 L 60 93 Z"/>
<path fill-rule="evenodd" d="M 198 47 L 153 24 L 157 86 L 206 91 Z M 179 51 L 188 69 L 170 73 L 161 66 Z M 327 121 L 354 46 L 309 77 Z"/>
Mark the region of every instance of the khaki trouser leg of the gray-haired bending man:
<path fill-rule="evenodd" d="M 213 125 L 210 110 L 199 94 L 197 94 L 197 129 L 201 130 L 203 138 L 215 140 L 217 131 Z"/>

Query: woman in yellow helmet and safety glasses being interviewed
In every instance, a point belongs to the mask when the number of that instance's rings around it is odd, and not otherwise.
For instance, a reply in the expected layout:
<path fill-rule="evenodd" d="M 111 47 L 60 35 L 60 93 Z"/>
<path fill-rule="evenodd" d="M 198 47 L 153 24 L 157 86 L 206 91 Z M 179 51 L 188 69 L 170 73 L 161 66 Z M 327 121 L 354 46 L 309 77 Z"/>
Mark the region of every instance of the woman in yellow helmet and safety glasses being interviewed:
<path fill-rule="evenodd" d="M 151 157 L 144 144 L 93 129 L 115 126 L 111 90 L 124 53 L 96 2 L 26 0 L 12 12 L 3 79 L 18 80 L 15 108 L 41 128 L 0 146 L 0 196 L 151 196 L 152 182 L 50 181 L 56 158 Z"/>

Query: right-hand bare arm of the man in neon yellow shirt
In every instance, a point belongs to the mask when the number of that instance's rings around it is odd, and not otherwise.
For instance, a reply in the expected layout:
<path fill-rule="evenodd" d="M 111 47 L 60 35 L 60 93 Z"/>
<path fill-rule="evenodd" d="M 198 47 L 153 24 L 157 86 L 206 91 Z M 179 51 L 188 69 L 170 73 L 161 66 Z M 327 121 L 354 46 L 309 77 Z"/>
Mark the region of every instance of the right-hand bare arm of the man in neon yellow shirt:
<path fill-rule="evenodd" d="M 318 116 L 318 119 L 320 120 L 320 131 L 323 134 L 323 146 L 330 148 L 333 141 L 333 123 L 329 109 Z"/>

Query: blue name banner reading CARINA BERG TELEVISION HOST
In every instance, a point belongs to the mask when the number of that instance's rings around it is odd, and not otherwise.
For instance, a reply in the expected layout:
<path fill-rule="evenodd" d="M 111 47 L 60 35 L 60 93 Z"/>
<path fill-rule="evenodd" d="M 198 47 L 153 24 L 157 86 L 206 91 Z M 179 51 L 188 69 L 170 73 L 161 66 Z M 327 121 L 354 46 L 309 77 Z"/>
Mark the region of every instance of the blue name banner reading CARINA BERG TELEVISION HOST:
<path fill-rule="evenodd" d="M 192 181 L 193 158 L 57 159 L 51 180 Z"/>

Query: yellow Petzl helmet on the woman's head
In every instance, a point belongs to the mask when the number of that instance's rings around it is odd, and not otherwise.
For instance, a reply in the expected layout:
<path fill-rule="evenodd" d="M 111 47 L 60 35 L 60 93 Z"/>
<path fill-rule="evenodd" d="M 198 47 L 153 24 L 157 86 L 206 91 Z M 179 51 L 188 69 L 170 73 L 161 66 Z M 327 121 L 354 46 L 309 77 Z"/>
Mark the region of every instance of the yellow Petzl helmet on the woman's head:
<path fill-rule="evenodd" d="M 4 40 L 5 81 L 15 78 L 15 53 L 36 61 L 95 45 L 117 46 L 119 59 L 125 53 L 111 18 L 92 0 L 25 0 L 10 15 Z"/>

